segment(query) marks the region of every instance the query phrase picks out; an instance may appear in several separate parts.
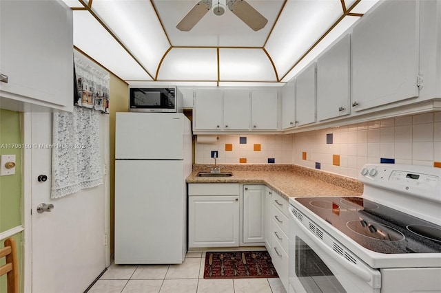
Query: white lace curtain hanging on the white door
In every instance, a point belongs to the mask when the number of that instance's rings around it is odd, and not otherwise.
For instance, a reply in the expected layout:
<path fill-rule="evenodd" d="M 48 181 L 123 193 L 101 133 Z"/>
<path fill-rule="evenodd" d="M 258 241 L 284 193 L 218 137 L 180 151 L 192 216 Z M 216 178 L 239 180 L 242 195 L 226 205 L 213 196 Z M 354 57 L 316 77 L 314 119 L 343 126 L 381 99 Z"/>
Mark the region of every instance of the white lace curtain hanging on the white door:
<path fill-rule="evenodd" d="M 52 142 L 52 199 L 103 184 L 98 111 L 54 113 Z"/>

